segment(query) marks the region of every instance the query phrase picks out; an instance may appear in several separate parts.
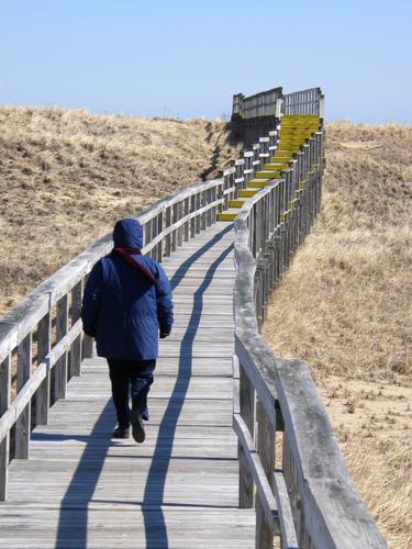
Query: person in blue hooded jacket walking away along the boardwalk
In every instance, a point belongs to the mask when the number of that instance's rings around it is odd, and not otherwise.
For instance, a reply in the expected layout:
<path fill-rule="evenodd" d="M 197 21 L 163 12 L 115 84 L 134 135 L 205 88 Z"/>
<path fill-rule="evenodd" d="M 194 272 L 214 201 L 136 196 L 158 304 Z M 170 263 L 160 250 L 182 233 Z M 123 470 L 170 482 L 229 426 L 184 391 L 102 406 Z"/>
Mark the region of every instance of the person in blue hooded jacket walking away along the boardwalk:
<path fill-rule="evenodd" d="M 113 242 L 111 254 L 90 272 L 81 320 L 85 333 L 96 338 L 98 356 L 108 360 L 118 416 L 113 437 L 129 438 L 132 425 L 133 438 L 143 442 L 158 337 L 167 337 L 174 322 L 171 290 L 160 265 L 141 253 L 138 221 L 118 221 Z"/>

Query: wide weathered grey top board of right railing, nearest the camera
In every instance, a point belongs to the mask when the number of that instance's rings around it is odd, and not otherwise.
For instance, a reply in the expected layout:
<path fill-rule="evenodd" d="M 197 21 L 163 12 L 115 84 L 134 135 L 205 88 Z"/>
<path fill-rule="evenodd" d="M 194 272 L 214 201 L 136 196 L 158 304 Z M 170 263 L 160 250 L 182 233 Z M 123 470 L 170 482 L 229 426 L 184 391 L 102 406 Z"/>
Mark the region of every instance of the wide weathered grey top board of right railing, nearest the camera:
<path fill-rule="evenodd" d="M 315 547 L 387 547 L 346 469 L 307 365 L 280 360 L 274 373 L 303 529 Z M 301 524 L 297 531 L 302 536 Z"/>

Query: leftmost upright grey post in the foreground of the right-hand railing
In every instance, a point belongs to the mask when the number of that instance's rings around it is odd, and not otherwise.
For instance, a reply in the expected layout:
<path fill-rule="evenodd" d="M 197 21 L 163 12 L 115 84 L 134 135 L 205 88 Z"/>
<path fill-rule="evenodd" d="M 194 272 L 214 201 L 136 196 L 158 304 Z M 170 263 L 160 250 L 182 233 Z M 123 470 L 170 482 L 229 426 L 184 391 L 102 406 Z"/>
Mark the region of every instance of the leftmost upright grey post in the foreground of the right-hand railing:
<path fill-rule="evenodd" d="M 255 390 L 250 383 L 245 370 L 240 365 L 241 379 L 241 416 L 249 429 L 252 439 L 255 430 Z M 247 464 L 245 452 L 241 445 L 238 451 L 238 506 L 241 508 L 250 508 L 254 505 L 254 483 Z"/>

